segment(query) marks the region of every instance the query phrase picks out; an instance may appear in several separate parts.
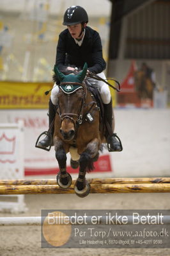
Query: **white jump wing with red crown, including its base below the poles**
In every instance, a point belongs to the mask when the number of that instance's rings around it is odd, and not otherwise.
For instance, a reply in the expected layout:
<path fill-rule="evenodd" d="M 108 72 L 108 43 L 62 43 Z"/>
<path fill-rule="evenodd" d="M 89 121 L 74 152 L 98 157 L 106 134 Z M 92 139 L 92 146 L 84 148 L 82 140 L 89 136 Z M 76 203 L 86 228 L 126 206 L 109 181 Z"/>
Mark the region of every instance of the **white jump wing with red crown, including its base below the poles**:
<path fill-rule="evenodd" d="M 19 180 L 24 178 L 24 123 L 0 124 L 0 179 Z M 1 200 L 2 198 L 2 200 Z M 15 198 L 15 200 L 13 200 Z M 24 195 L 0 196 L 0 210 L 24 212 Z"/>

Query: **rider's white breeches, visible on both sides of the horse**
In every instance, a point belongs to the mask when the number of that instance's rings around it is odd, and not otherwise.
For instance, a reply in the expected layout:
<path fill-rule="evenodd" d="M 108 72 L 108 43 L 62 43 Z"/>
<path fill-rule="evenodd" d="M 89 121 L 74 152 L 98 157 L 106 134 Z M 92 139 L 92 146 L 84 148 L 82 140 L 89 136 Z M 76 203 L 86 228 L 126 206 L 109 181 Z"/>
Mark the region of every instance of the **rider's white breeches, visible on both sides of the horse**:
<path fill-rule="evenodd" d="M 98 76 L 100 76 L 100 78 L 105 79 L 105 74 L 104 72 L 97 74 Z M 106 83 L 104 83 L 104 81 L 98 81 L 97 82 L 97 86 L 98 86 L 98 90 L 100 92 L 100 96 L 102 98 L 102 101 L 104 104 L 109 104 L 111 101 L 111 92 L 109 90 L 109 85 L 107 85 Z M 52 104 L 56 105 L 58 103 L 58 85 L 56 85 L 56 83 L 54 83 L 54 86 L 51 90 L 51 94 L 50 94 L 50 99 L 52 101 Z"/>

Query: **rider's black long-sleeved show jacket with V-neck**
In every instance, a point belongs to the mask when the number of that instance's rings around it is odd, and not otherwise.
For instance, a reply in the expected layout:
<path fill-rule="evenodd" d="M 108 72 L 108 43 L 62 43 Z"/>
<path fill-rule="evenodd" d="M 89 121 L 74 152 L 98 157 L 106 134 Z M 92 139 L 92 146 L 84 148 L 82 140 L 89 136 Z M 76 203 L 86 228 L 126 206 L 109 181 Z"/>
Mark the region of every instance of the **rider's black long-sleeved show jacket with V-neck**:
<path fill-rule="evenodd" d="M 105 69 L 105 60 L 102 56 L 102 42 L 97 31 L 86 26 L 82 45 L 79 46 L 70 35 L 68 29 L 59 34 L 56 65 L 59 70 L 64 66 L 75 65 L 82 69 L 87 62 L 88 70 L 98 74 Z"/>

